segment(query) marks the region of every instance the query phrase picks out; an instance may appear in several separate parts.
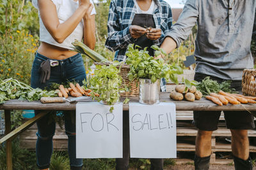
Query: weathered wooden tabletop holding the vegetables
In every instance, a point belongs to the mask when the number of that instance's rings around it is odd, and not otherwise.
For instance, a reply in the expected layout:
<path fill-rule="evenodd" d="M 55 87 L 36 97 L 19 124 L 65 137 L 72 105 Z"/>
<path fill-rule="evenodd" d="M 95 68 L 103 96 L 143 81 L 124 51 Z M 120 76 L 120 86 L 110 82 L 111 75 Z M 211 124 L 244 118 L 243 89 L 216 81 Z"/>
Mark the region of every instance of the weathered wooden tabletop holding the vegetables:
<path fill-rule="evenodd" d="M 138 97 L 129 97 L 131 100 L 130 102 L 138 102 Z M 121 101 L 124 101 L 124 97 L 121 97 Z M 92 99 L 86 99 L 86 101 L 92 101 Z M 176 110 L 178 111 L 188 111 L 188 110 L 195 110 L 195 111 L 221 111 L 221 110 L 248 110 L 248 111 L 256 111 L 255 104 L 237 104 L 232 105 L 228 104 L 227 106 L 217 106 L 216 104 L 212 103 L 211 101 L 207 101 L 205 98 L 202 98 L 200 101 L 173 101 L 169 97 L 168 92 L 161 92 L 160 97 L 161 102 L 169 102 L 175 103 Z M 19 100 L 11 100 L 6 101 L 6 103 L 0 105 L 0 109 L 2 110 L 76 110 L 76 103 L 48 103 L 42 104 L 40 101 L 19 101 Z M 123 110 L 129 110 L 129 104 L 124 104 Z"/>

